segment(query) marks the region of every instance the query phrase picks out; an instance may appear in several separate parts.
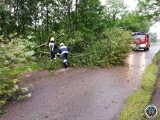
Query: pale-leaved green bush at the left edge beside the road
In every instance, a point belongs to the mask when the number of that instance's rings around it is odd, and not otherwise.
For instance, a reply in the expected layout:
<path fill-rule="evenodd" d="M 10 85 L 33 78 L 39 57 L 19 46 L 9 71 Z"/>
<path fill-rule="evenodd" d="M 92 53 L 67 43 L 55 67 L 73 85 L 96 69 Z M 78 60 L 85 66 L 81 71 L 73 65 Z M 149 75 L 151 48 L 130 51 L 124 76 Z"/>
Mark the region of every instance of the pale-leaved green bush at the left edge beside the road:
<path fill-rule="evenodd" d="M 19 87 L 17 75 L 36 68 L 35 52 L 32 48 L 36 44 L 25 39 L 13 39 L 0 44 L 0 109 L 9 99 L 23 99 L 30 97 L 28 89 Z M 28 67 L 28 64 L 29 67 Z M 27 94 L 26 94 L 27 93 Z M 0 113 L 3 110 L 0 110 Z"/>

